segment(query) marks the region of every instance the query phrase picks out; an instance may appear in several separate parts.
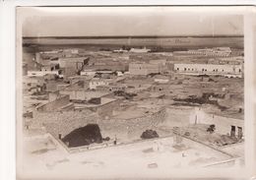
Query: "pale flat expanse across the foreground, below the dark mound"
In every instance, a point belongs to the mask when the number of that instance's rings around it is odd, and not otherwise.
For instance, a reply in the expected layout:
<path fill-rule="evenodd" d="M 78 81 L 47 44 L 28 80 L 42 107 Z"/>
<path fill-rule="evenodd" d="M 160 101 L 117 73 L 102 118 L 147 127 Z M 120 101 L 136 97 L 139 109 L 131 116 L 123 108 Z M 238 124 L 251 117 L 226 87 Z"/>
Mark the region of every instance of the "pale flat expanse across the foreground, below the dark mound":
<path fill-rule="evenodd" d="M 38 139 L 44 142 L 41 146 L 37 146 Z M 189 140 L 183 139 L 177 145 L 172 138 L 71 154 L 48 137 L 25 139 L 24 147 L 23 172 L 42 175 L 41 177 L 45 174 L 67 177 L 71 173 L 74 176 L 79 173 L 83 178 L 96 175 L 102 177 L 102 174 L 118 176 L 124 171 L 123 175 L 131 172 L 147 175 L 168 171 L 169 168 L 203 167 L 229 158 L 217 150 Z"/>

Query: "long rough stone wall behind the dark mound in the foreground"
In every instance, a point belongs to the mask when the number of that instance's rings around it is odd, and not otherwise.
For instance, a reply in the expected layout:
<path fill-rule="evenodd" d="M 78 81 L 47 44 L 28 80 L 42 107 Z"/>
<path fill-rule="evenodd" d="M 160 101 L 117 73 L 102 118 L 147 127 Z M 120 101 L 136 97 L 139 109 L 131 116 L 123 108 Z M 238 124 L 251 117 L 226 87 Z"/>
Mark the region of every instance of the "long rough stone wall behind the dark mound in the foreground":
<path fill-rule="evenodd" d="M 45 128 L 54 138 L 61 134 L 62 138 L 73 130 L 84 127 L 89 123 L 98 124 L 102 137 L 118 140 L 139 140 L 141 134 L 147 129 L 156 130 L 158 125 L 166 118 L 165 108 L 146 116 L 133 119 L 102 120 L 98 115 L 88 109 L 59 111 L 59 112 L 34 112 L 30 129 Z"/>

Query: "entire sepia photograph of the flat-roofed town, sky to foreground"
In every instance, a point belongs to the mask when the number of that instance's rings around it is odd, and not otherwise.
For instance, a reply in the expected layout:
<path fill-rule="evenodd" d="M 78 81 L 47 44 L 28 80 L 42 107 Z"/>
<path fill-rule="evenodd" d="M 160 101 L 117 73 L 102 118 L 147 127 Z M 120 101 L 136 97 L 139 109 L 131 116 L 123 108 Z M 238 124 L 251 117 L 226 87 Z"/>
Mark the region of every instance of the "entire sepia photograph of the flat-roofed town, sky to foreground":
<path fill-rule="evenodd" d="M 16 11 L 18 177 L 245 167 L 241 11 Z"/>

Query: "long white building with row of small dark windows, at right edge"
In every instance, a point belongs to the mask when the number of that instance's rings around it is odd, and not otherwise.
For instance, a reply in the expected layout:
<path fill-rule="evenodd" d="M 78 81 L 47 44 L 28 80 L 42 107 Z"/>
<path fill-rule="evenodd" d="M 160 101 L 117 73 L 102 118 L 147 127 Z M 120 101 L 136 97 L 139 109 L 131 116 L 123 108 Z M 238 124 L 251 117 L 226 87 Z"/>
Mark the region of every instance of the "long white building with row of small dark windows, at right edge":
<path fill-rule="evenodd" d="M 174 64 L 174 71 L 186 75 L 221 75 L 228 78 L 242 78 L 242 65 Z"/>

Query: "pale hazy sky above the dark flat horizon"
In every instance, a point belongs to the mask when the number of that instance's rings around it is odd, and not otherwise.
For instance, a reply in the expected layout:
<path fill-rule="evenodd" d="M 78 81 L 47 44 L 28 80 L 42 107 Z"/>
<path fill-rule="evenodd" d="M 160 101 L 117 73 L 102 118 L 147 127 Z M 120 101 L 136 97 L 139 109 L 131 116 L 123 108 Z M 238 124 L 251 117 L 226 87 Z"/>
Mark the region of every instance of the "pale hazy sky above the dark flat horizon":
<path fill-rule="evenodd" d="M 227 7 L 22 7 L 17 16 L 23 36 L 243 34 L 243 17 Z"/>

